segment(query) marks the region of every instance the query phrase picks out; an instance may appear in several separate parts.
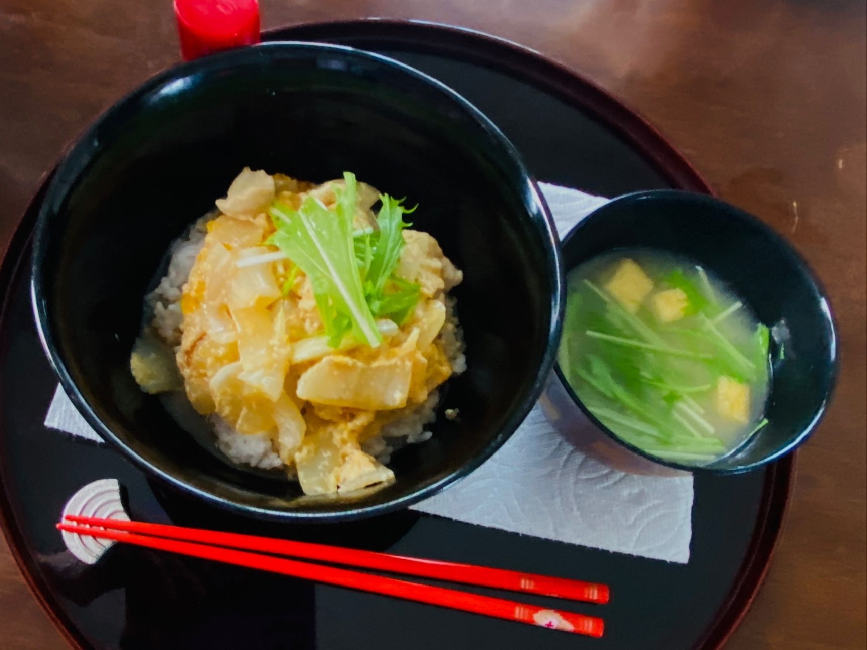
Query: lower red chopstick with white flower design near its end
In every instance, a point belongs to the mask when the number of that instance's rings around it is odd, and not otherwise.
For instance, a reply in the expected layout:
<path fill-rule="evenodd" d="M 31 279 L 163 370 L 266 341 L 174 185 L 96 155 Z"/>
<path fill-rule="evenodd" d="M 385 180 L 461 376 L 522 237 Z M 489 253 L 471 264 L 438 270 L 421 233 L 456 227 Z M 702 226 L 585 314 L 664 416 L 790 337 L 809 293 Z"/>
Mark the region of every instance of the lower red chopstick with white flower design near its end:
<path fill-rule="evenodd" d="M 110 522 L 112 525 L 119 522 Z M 166 550 L 184 556 L 200 557 L 215 562 L 235 564 L 250 569 L 260 569 L 283 575 L 292 575 L 316 582 L 324 582 L 339 587 L 348 587 L 373 594 L 390 595 L 407 601 L 424 602 L 444 608 L 460 609 L 473 614 L 483 614 L 506 621 L 518 621 L 538 627 L 583 634 L 592 637 L 603 635 L 604 623 L 596 616 L 586 616 L 561 610 L 540 608 L 516 601 L 508 601 L 492 596 L 467 594 L 463 591 L 432 585 L 419 584 L 370 575 L 349 569 L 337 569 L 320 564 L 310 564 L 282 557 L 264 556 L 244 550 L 225 549 L 202 543 L 182 542 L 176 539 L 137 535 L 121 530 L 95 530 L 88 526 L 58 523 L 57 528 L 68 532 L 88 535 L 102 539 L 113 539 L 122 543 L 144 546 L 149 549 Z"/>

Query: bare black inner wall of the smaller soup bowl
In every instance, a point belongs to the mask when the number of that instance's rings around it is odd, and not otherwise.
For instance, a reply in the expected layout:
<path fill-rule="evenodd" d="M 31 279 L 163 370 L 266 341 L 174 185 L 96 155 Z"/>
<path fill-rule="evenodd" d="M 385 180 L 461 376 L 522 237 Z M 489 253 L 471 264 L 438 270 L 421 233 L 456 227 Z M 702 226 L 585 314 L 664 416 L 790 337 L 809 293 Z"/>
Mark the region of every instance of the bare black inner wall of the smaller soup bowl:
<path fill-rule="evenodd" d="M 661 190 L 618 198 L 584 219 L 564 240 L 564 268 L 568 275 L 596 255 L 631 247 L 664 250 L 701 263 L 728 283 L 760 322 L 786 333 L 782 360 L 776 358 L 772 337 L 767 426 L 733 454 L 703 468 L 652 459 L 690 471 L 736 472 L 779 458 L 799 445 L 825 412 L 837 374 L 831 309 L 806 263 L 745 211 L 701 194 Z M 570 388 L 569 392 L 576 397 Z M 592 419 L 617 439 L 616 433 Z"/>

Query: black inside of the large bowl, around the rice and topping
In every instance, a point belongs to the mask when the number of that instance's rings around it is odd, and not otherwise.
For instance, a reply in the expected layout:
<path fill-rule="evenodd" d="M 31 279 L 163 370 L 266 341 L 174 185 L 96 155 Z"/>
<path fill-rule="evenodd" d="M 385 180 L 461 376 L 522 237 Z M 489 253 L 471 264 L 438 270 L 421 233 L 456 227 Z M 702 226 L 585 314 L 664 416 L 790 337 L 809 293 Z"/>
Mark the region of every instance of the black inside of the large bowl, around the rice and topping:
<path fill-rule="evenodd" d="M 433 439 L 396 453 L 396 482 L 362 500 L 302 498 L 285 478 L 229 464 L 129 373 L 160 260 L 244 166 L 317 182 L 349 170 L 406 196 L 419 204 L 414 227 L 464 271 L 454 296 L 468 370 L 447 382 L 440 405 L 460 417 L 438 419 Z M 282 43 L 174 68 L 68 154 L 36 237 L 36 313 L 82 412 L 147 468 L 230 508 L 349 517 L 417 500 L 492 453 L 551 366 L 557 251 L 517 154 L 456 95 L 375 55 Z"/>

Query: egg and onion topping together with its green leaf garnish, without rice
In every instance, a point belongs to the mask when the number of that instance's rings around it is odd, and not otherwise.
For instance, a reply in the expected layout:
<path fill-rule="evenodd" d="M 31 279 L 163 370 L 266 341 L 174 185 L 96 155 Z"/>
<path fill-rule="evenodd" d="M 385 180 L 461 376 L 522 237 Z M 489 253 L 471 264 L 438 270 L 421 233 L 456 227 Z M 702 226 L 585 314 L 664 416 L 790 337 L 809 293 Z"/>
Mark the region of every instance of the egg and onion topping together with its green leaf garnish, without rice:
<path fill-rule="evenodd" d="M 460 270 L 401 201 L 350 173 L 312 185 L 246 168 L 216 203 L 173 346 L 192 406 L 267 434 L 306 494 L 394 480 L 362 443 L 460 371 L 447 297 Z M 147 392 L 172 387 L 165 366 L 134 349 Z"/>

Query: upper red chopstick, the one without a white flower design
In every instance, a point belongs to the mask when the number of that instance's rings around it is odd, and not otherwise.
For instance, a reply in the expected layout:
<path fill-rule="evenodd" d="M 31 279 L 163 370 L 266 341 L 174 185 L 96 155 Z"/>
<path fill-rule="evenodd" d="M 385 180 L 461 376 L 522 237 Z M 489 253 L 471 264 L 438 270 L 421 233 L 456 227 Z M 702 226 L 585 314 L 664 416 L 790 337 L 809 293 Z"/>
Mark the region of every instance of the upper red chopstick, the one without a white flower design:
<path fill-rule="evenodd" d="M 127 522 L 114 519 L 99 519 L 96 517 L 76 517 L 73 515 L 67 515 L 66 518 L 75 523 L 101 526 L 114 530 L 139 532 L 146 535 L 170 537 L 172 539 L 186 540 L 187 542 L 216 544 L 218 546 L 261 551 L 280 556 L 303 557 L 308 560 L 346 564 L 363 567 L 364 569 L 415 575 L 447 582 L 462 582 L 479 587 L 507 589 L 525 594 L 553 596 L 572 601 L 604 604 L 610 598 L 610 591 L 607 585 L 567 578 L 556 578 L 551 575 L 537 575 L 508 569 L 492 569 L 490 567 L 478 567 L 473 564 L 461 564 L 459 562 L 425 560 L 418 557 L 394 556 L 388 553 L 377 553 L 369 550 L 343 549 L 339 546 L 294 542 L 284 539 L 274 539 L 272 537 L 226 533 L 218 530 L 168 526 L 160 523 Z"/>

